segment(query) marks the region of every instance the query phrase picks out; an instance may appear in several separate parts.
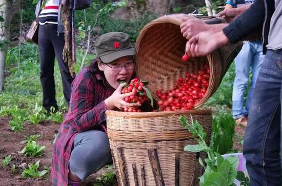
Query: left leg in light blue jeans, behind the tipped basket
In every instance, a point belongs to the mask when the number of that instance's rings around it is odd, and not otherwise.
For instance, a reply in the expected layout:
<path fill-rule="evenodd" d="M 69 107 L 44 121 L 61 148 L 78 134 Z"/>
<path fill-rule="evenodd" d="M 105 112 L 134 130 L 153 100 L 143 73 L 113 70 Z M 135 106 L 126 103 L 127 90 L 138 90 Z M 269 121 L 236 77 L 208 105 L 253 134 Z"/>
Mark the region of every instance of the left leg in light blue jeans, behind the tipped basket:
<path fill-rule="evenodd" d="M 244 45 L 235 58 L 235 79 L 232 93 L 232 114 L 234 119 L 245 116 L 244 95 L 248 86 L 248 78 L 253 54 L 250 42 Z"/>

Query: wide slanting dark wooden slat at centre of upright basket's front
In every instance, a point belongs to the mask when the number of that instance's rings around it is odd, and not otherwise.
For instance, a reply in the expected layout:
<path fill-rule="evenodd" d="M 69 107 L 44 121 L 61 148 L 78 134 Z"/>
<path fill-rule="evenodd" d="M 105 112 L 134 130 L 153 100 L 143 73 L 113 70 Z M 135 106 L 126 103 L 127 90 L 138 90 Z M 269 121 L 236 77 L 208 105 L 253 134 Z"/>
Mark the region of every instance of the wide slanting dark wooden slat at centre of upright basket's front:
<path fill-rule="evenodd" d="M 159 160 L 158 160 L 158 155 L 157 155 L 157 150 L 148 150 L 148 156 L 150 159 L 153 175 L 155 178 L 155 182 L 157 186 L 164 186 L 164 178 L 162 175 L 162 170 L 160 170 L 160 165 L 159 165 Z"/>

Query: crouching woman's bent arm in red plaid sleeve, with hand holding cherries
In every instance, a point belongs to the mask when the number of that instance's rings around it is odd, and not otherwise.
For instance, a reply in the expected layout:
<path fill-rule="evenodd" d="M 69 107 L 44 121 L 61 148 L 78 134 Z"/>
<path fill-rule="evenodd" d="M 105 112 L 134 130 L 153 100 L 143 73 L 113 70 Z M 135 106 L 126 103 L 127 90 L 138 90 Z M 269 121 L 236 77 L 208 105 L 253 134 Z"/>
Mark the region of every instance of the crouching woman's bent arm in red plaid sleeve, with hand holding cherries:
<path fill-rule="evenodd" d="M 95 96 L 95 94 L 103 94 L 103 92 L 95 92 L 95 86 L 97 86 L 95 81 L 97 80 L 94 79 L 90 72 L 80 73 L 74 79 L 71 90 L 70 111 L 74 116 L 74 125 L 78 132 L 84 132 L 92 127 L 99 126 L 106 120 L 105 112 L 108 109 L 137 106 L 137 104 L 124 101 L 126 96 L 133 93 L 121 94 L 122 85 L 110 97 L 94 105 L 94 99 L 99 97 Z"/>

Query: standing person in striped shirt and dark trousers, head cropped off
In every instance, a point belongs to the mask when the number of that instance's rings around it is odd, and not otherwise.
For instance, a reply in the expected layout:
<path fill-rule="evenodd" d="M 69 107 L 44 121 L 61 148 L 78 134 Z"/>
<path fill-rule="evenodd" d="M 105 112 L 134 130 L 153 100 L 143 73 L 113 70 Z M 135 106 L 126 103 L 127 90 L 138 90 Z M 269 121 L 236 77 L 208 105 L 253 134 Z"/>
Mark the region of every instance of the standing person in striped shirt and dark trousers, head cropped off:
<path fill-rule="evenodd" d="M 39 22 L 38 47 L 40 61 L 40 81 L 43 91 L 43 108 L 50 112 L 51 107 L 58 110 L 54 80 L 55 57 L 58 61 L 63 82 L 63 93 L 69 107 L 73 77 L 67 63 L 63 60 L 65 46 L 62 23 L 61 0 L 41 0 L 35 10 Z"/>

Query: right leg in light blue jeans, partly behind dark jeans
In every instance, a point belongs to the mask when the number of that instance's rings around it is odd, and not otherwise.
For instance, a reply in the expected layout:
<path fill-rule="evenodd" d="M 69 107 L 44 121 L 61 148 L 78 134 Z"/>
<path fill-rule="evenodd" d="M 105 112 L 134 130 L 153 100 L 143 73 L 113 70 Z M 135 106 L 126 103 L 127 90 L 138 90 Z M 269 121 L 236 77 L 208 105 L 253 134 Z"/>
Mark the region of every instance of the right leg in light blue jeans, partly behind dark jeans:
<path fill-rule="evenodd" d="M 246 109 L 245 109 L 246 116 L 249 115 L 251 100 L 252 100 L 252 96 L 253 96 L 253 92 L 254 92 L 254 88 L 256 84 L 256 79 L 257 79 L 261 64 L 263 64 L 263 60 L 265 57 L 265 55 L 263 54 L 263 42 L 260 42 L 257 40 L 257 41 L 251 42 L 251 45 L 252 45 L 254 57 L 253 57 L 253 61 L 251 64 L 252 81 L 251 81 L 251 85 L 250 85 L 250 89 L 249 89 L 247 101 L 246 101 Z"/>

